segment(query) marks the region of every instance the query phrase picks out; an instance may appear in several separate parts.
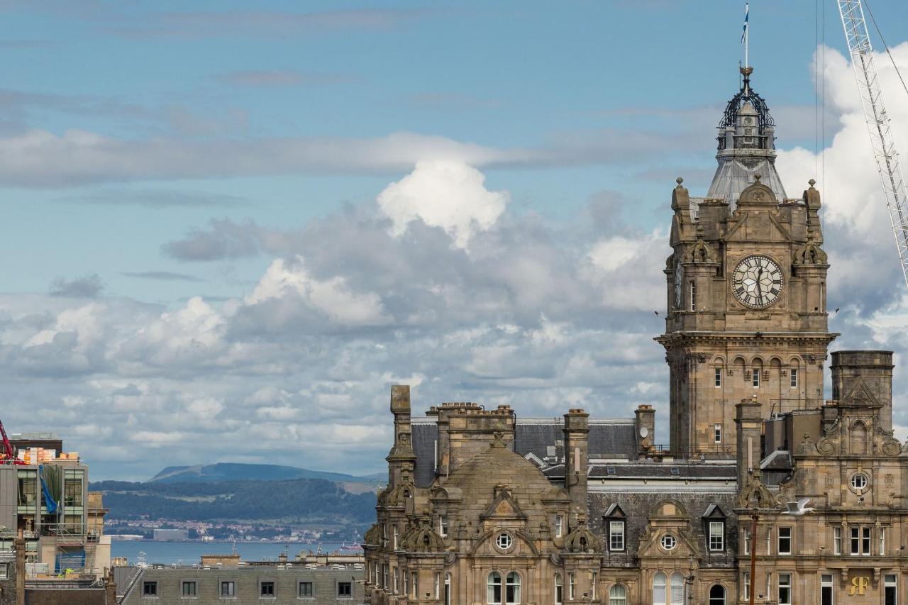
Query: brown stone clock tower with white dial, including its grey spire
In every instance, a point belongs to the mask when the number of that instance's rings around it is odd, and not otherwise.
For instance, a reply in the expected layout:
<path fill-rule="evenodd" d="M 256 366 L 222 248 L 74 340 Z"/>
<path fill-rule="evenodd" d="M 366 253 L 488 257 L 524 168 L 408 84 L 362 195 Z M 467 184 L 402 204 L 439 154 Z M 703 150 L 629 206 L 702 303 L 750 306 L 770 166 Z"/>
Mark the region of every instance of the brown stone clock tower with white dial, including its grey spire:
<path fill-rule="evenodd" d="M 666 262 L 670 443 L 681 455 L 735 451 L 735 403 L 762 416 L 823 404 L 830 333 L 820 193 L 787 199 L 775 171 L 775 124 L 744 85 L 718 126 L 705 198 L 672 193 Z"/>

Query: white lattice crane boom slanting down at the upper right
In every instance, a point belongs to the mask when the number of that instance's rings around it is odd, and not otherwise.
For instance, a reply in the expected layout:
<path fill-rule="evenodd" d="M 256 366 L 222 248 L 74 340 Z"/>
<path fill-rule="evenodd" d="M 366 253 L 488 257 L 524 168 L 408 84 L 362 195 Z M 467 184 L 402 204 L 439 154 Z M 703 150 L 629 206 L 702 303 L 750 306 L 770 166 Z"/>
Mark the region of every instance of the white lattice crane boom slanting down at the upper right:
<path fill-rule="evenodd" d="M 864 6 L 861 0 L 837 0 L 839 15 L 842 15 L 842 26 L 848 52 L 851 53 L 854 79 L 857 80 L 858 94 L 864 105 L 864 121 L 870 132 L 873 145 L 873 156 L 876 158 L 876 170 L 883 183 L 883 194 L 889 219 L 893 223 L 895 243 L 898 246 L 899 263 L 905 283 L 908 283 L 908 202 L 905 198 L 905 185 L 899 156 L 895 152 L 893 133 L 889 127 L 889 114 L 883 106 L 883 94 L 880 89 L 879 74 L 873 64 L 873 47 L 864 21 Z"/>

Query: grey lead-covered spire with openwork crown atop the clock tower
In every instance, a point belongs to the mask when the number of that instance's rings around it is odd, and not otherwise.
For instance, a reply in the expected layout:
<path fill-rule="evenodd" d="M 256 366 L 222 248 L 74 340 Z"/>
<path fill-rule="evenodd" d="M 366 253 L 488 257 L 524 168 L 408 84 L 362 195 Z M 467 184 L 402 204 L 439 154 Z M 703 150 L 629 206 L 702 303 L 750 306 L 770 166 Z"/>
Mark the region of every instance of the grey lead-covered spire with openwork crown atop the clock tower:
<path fill-rule="evenodd" d="M 718 125 L 718 167 L 707 197 L 736 202 L 746 187 L 761 183 L 785 199 L 785 187 L 775 172 L 775 122 L 763 97 L 750 87 L 753 67 L 741 67 L 744 84 L 725 106 Z"/>

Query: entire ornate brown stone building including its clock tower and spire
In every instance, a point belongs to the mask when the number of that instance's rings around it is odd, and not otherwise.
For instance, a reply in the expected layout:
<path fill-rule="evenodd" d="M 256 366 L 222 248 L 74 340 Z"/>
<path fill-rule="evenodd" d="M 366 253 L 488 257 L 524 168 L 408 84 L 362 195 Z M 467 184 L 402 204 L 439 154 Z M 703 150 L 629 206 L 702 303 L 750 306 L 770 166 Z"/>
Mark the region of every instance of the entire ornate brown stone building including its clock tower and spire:
<path fill-rule="evenodd" d="M 785 197 L 750 85 L 704 198 L 678 179 L 666 263 L 668 446 L 655 414 L 518 418 L 443 403 L 394 445 L 365 536 L 371 603 L 908 602 L 908 451 L 891 352 L 832 354 L 820 194 Z M 654 269 L 655 270 L 655 269 Z"/>

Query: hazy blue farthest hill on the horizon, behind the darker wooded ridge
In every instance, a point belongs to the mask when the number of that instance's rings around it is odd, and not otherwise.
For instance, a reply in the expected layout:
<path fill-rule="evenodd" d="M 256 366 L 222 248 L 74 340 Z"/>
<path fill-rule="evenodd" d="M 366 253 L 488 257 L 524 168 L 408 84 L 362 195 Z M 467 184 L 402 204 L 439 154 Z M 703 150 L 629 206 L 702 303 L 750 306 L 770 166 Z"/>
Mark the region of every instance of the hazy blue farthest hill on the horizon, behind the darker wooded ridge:
<path fill-rule="evenodd" d="M 385 475 L 355 477 L 341 472 L 311 471 L 278 464 L 242 464 L 219 462 L 195 466 L 168 466 L 147 483 L 220 483 L 222 481 L 291 481 L 295 479 L 324 479 L 336 483 L 374 484 Z"/>

